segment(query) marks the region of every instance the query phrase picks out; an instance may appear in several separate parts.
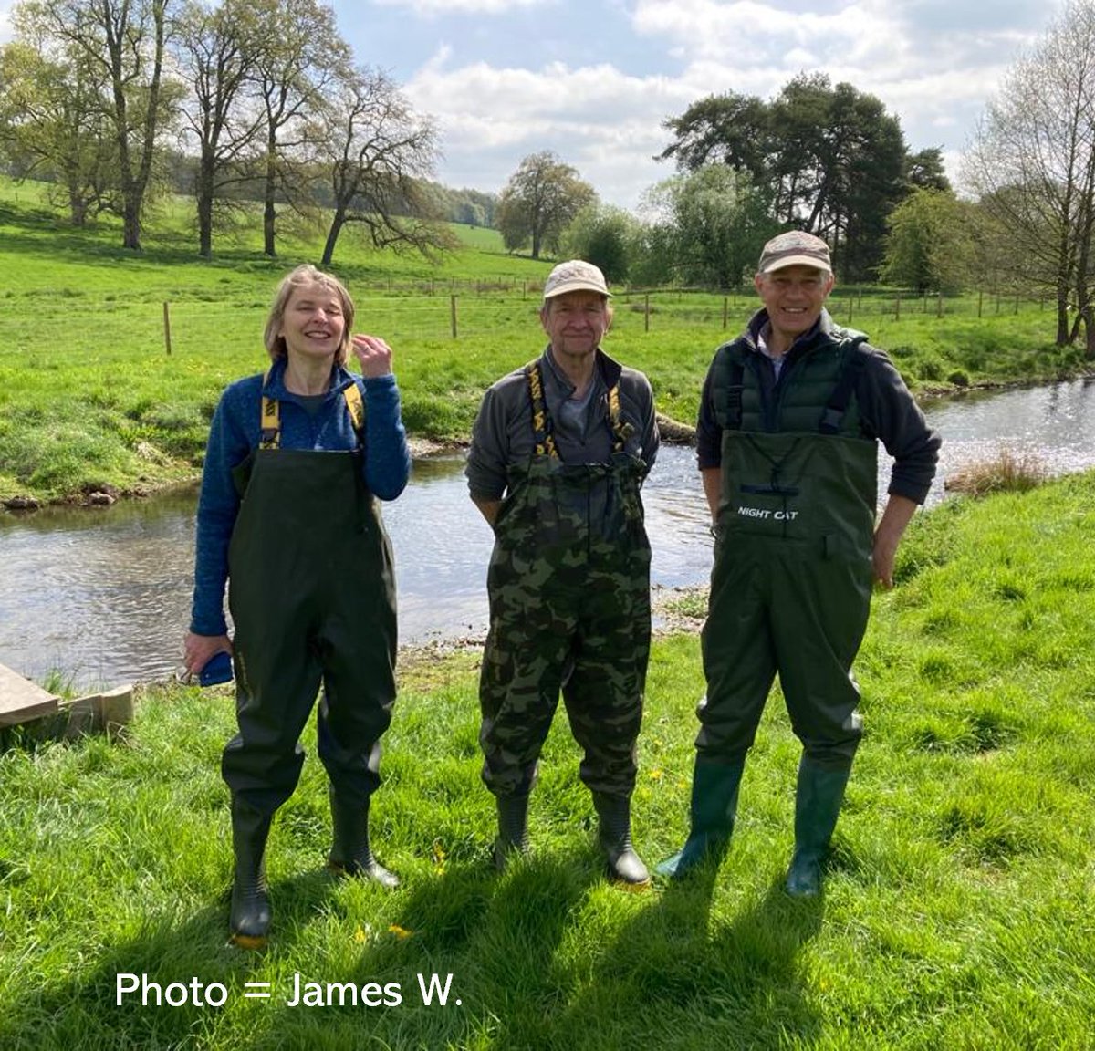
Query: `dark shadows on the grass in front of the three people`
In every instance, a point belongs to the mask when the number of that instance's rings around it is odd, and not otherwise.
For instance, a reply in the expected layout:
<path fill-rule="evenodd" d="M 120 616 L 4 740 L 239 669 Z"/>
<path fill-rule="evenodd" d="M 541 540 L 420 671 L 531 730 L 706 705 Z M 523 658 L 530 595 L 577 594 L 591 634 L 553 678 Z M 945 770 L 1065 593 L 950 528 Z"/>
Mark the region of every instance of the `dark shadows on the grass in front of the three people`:
<path fill-rule="evenodd" d="M 534 854 L 502 875 L 485 852 L 441 871 L 419 864 L 393 892 L 312 869 L 272 886 L 264 952 L 227 945 L 227 887 L 210 888 L 197 908 L 131 922 L 124 942 L 82 938 L 89 960 L 54 965 L 60 981 L 8 997 L 0 1047 L 611 1051 L 809 1042 L 819 1023 L 798 957 L 823 903 L 791 901 L 780 881 L 733 913 L 715 893 L 716 878 L 708 867 L 685 883 L 616 898 L 625 892 L 604 885 L 589 846 Z M 120 1004 L 118 975 L 135 975 L 120 980 L 135 986 Z M 159 1004 L 151 989 L 142 996 L 141 975 L 160 986 Z M 171 1006 L 184 986 L 186 1002 Z M 318 1000 L 299 1002 L 309 988 Z M 222 1006 L 211 1002 L 221 995 Z"/>

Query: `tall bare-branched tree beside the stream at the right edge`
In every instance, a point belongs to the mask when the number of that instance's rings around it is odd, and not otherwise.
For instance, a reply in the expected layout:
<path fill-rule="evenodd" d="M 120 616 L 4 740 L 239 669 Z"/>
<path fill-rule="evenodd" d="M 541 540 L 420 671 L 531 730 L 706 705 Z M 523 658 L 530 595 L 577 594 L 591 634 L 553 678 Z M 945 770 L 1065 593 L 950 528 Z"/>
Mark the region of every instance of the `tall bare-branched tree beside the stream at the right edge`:
<path fill-rule="evenodd" d="M 963 175 L 1008 231 L 1012 274 L 1048 290 L 1057 345 L 1095 358 L 1095 2 L 1070 0 L 989 104 Z"/>

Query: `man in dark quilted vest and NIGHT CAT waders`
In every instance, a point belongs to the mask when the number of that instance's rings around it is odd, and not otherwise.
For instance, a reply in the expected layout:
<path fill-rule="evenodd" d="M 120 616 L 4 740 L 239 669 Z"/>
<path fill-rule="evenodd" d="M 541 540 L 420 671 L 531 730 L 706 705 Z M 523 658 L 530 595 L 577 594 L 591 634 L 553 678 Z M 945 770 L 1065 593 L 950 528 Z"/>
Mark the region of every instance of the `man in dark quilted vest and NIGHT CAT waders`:
<path fill-rule="evenodd" d="M 802 741 L 786 889 L 816 896 L 862 736 L 852 662 L 875 580 L 924 501 L 940 439 L 889 358 L 825 309 L 829 249 L 792 230 L 761 253 L 763 303 L 704 382 L 696 452 L 715 532 L 706 696 L 699 707 L 691 829 L 658 866 L 680 878 L 726 850 L 746 753 L 780 685 Z M 877 449 L 894 458 L 875 524 Z"/>

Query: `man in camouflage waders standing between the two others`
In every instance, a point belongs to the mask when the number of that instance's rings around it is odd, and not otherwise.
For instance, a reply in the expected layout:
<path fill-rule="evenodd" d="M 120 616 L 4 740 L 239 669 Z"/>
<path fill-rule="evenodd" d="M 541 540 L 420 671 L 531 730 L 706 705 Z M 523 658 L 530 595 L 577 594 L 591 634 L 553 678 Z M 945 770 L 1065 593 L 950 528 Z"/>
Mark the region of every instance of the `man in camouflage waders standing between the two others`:
<path fill-rule="evenodd" d="M 495 862 L 529 850 L 529 793 L 562 691 L 584 750 L 609 876 L 642 888 L 631 843 L 635 742 L 650 642 L 650 547 L 639 487 L 658 452 L 650 384 L 601 349 L 604 276 L 560 263 L 544 284 L 543 354 L 486 392 L 468 485 L 494 529 L 480 706 Z"/>

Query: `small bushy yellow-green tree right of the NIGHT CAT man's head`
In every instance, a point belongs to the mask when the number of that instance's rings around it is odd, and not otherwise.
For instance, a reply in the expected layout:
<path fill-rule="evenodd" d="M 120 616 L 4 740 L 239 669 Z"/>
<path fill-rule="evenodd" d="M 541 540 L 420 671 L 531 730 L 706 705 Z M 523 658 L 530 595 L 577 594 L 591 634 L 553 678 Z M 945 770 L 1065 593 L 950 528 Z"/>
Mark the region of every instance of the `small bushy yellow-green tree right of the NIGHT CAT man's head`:
<path fill-rule="evenodd" d="M 953 192 L 914 189 L 890 213 L 883 280 L 921 293 L 964 288 L 975 256 L 968 227 Z"/>

